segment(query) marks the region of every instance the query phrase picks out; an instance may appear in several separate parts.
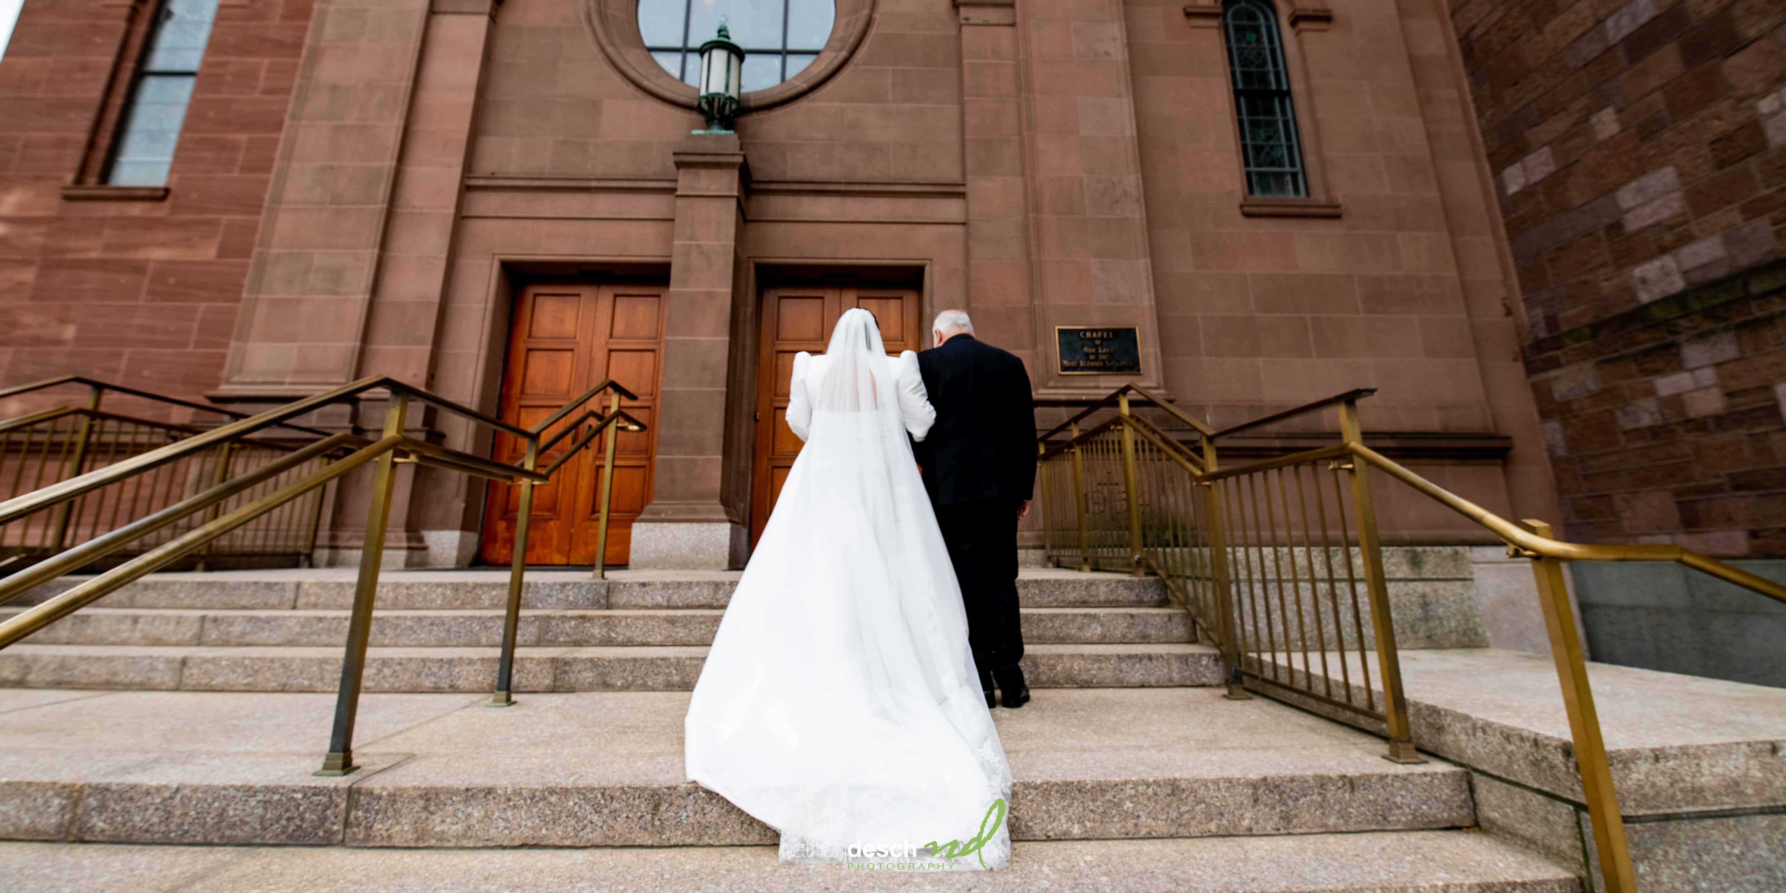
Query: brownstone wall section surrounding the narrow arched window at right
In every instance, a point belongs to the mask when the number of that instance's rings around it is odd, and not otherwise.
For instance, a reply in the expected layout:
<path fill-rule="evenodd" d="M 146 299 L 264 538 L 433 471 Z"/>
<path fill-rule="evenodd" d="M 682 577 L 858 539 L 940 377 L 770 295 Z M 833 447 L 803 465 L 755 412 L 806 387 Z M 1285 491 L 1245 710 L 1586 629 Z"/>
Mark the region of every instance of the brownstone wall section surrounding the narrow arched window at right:
<path fill-rule="evenodd" d="M 1264 216 L 1243 209 L 1222 5 L 1125 2 L 1166 388 L 1216 425 L 1379 388 L 1368 430 L 1513 438 L 1498 468 L 1422 473 L 1497 513 L 1554 518 L 1443 0 L 1277 7 L 1314 207 Z M 1398 488 L 1382 498 L 1409 536 L 1472 534 Z"/>

